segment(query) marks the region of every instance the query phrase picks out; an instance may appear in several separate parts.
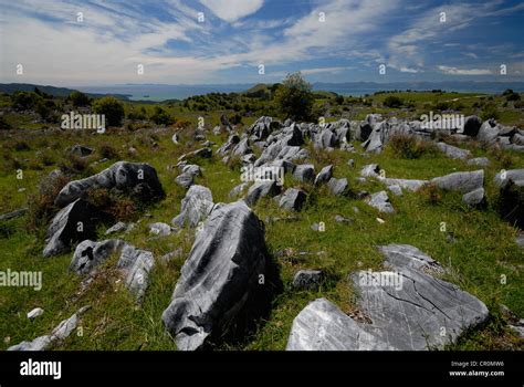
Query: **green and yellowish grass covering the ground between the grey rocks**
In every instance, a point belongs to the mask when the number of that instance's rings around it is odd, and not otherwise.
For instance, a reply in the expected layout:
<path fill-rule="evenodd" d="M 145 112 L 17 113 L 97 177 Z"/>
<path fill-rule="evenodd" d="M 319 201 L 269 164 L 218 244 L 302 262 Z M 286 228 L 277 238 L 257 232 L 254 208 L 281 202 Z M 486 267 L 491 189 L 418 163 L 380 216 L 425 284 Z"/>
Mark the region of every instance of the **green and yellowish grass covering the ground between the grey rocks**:
<path fill-rule="evenodd" d="M 349 118 L 360 118 L 371 112 L 410 116 L 423 111 L 427 105 L 433 106 L 454 98 L 459 98 L 464 111 L 475 111 L 473 104 L 480 100 L 473 94 L 455 93 L 438 96 L 434 93 L 397 95 L 412 101 L 415 106 L 408 111 L 386 108 L 380 106 L 386 96 L 381 94 L 370 97 L 371 106 L 345 102 L 337 108 Z M 499 98 L 501 97 L 494 97 L 492 103 L 500 106 L 500 121 L 523 127 L 522 109 L 505 111 L 502 107 L 503 101 Z M 326 102 L 323 100 L 316 103 Z M 143 106 L 139 103 L 125 105 L 127 111 Z M 348 111 L 344 111 L 345 106 Z M 153 108 L 149 104 L 144 104 L 144 107 L 148 111 Z M 199 116 L 205 116 L 209 129 L 227 112 L 195 112 L 180 107 L 179 104 L 168 108 L 177 118 L 188 121 L 190 127 L 196 126 Z M 243 118 L 243 126 L 255 118 Z M 155 129 L 154 125 L 136 130 L 109 129 L 103 135 L 84 130 L 44 134 L 31 130 L 42 125 L 32 123 L 23 114 L 11 114 L 8 121 L 19 129 L 0 133 L 0 212 L 31 203 L 39 182 L 57 167 L 65 168 L 74 178 L 80 178 L 97 172 L 119 159 L 144 161 L 156 168 L 167 197 L 133 213 L 132 220 L 138 222 L 137 227 L 117 237 L 151 251 L 156 258 L 178 248 L 182 249 L 182 254 L 168 263 L 158 261 L 150 275 L 150 286 L 144 302 L 138 306 L 122 281 L 118 281 L 118 273 L 112 269 L 116 258 L 105 262 L 104 270 L 99 271 L 94 282 L 84 286 L 82 278 L 67 272 L 72 253 L 42 258 L 48 219 L 34 219 L 30 212 L 0 223 L 0 270 L 43 272 L 41 291 L 0 287 L 0 349 L 49 334 L 62 320 L 84 305 L 92 307 L 82 318 L 82 328 L 54 349 L 176 349 L 174 341 L 164 330 L 160 315 L 169 304 L 180 268 L 191 249 L 193 230 L 182 230 L 159 238 L 150 236 L 147 226 L 157 221 L 169 223 L 179 213 L 185 191 L 175 184 L 178 175 L 176 168 L 169 167 L 177 164 L 180 155 L 199 147 L 198 143 L 190 140 L 191 129 L 179 132 L 180 143 L 184 145 L 175 145 L 171 136 L 176 125 L 163 129 Z M 209 130 L 207 138 L 216 143 L 217 149 L 227 136 L 214 136 Z M 93 147 L 95 153 L 86 161 L 71 159 L 65 149 L 74 144 Z M 101 163 L 104 146 L 111 146 L 114 154 L 111 159 Z M 129 147 L 134 147 L 136 154 L 129 153 Z M 359 149 L 357 143 L 355 147 Z M 310 185 L 302 186 L 308 192 L 308 199 L 305 208 L 296 215 L 281 210 L 271 199 L 256 203 L 253 210 L 265 221 L 266 243 L 279 264 L 284 290 L 274 300 L 271 316 L 268 321 L 260 322 L 256 332 L 242 342 L 222 344 L 218 348 L 284 349 L 293 318 L 308 302 L 321 296 L 333 301 L 346 313 L 352 313 L 355 311 L 355 295 L 347 275 L 356 270 L 380 269 L 382 258 L 376 247 L 387 243 L 408 243 L 428 253 L 449 269 L 446 280 L 478 296 L 490 308 L 492 318 L 489 323 L 481 330 L 467 334 L 452 349 L 524 348 L 522 341 L 504 326 L 499 312 L 499 304 L 504 304 L 517 315 L 524 315 L 524 252 L 514 241 L 517 230 L 501 220 L 496 212 L 497 192 L 492 185 L 493 176 L 502 168 L 523 168 L 524 155 L 507 153 L 507 156 L 501 158 L 475 143 L 461 147 L 471 149 L 475 156 L 488 156 L 492 161 L 490 167 L 484 168 L 489 199 L 485 209 L 465 207 L 461 197 L 453 194 L 442 194 L 440 200 L 431 202 L 423 192 L 405 191 L 402 197 L 390 195 L 396 213 L 379 215 L 354 195 L 333 197 L 326 187 L 314 188 Z M 355 160 L 355 168 L 347 165 L 350 158 Z M 378 163 L 386 170 L 387 177 L 395 178 L 429 179 L 453 171 L 479 169 L 433 153 L 418 159 L 402 159 L 389 147 L 380 155 L 370 156 L 361 155 L 360 151 L 313 151 L 310 161 L 315 165 L 316 171 L 328 164 L 335 165 L 335 177 L 347 178 L 353 194 L 384 189 L 384 186 L 373 180 L 365 184 L 355 181 L 361 167 L 370 163 Z M 198 160 L 198 164 L 202 167 L 203 176 L 197 178 L 197 184 L 211 189 L 214 202 L 231 201 L 229 191 L 241 182 L 239 166 L 223 165 L 214 157 Z M 22 179 L 17 178 L 19 169 L 23 171 Z M 285 186 L 300 185 L 286 177 Z M 337 223 L 334 219 L 336 215 L 350 218 L 353 222 Z M 283 219 L 271 221 L 275 217 Z M 379 223 L 377 217 L 385 222 Z M 326 226 L 325 232 L 313 231 L 311 224 L 321 221 Z M 441 222 L 447 224 L 446 232 L 441 231 Z M 111 226 L 107 223 L 99 227 L 98 239 L 104 239 L 104 232 Z M 451 234 L 453 238 L 450 238 Z M 296 291 L 291 286 L 292 278 L 300 269 L 321 269 L 327 274 L 318 292 Z M 505 282 L 501 281 L 502 275 L 506 278 Z M 36 306 L 42 307 L 44 314 L 35 320 L 28 320 L 25 314 Z"/>

